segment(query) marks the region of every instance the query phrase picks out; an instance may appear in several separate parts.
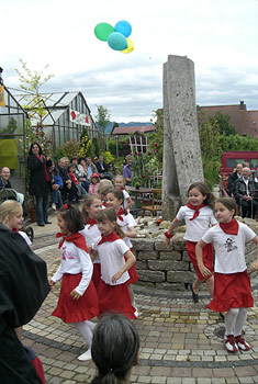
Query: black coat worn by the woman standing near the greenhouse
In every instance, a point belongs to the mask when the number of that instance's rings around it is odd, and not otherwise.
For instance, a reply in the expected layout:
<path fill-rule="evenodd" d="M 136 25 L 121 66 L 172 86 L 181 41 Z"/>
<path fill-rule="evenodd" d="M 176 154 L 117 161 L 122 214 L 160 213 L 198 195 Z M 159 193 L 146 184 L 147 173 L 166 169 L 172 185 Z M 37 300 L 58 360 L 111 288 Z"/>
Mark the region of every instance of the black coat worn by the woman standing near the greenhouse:
<path fill-rule="evenodd" d="M 43 161 L 46 165 L 49 177 L 48 168 L 52 166 L 52 160 L 46 160 L 46 158 L 43 156 Z M 27 156 L 27 169 L 31 171 L 29 193 L 36 196 L 48 194 L 51 191 L 51 182 L 46 181 L 45 167 L 43 162 L 33 154 Z"/>

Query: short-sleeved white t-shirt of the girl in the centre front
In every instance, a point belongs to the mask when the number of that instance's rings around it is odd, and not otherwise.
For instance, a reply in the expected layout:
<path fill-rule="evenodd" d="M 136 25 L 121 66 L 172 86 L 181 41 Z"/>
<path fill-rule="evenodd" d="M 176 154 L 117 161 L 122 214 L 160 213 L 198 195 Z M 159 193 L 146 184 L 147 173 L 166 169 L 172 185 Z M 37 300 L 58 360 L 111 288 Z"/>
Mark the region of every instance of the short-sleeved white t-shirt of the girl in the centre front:
<path fill-rule="evenodd" d="M 93 249 L 98 251 L 100 257 L 101 279 L 105 282 L 105 284 L 110 285 L 125 283 L 130 279 L 127 271 L 122 274 L 115 284 L 112 283 L 112 278 L 125 264 L 124 253 L 126 253 L 128 250 L 126 244 L 122 239 L 105 241 L 100 246 L 98 246 L 98 242 L 99 241 L 94 244 Z"/>

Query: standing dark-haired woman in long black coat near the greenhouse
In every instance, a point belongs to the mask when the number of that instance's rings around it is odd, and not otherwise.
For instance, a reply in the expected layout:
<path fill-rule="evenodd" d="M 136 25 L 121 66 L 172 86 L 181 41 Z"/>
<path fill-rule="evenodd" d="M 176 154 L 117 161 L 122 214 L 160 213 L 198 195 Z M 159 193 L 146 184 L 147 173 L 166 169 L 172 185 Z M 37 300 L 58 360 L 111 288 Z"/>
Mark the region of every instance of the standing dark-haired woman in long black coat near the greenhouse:
<path fill-rule="evenodd" d="M 52 166 L 51 157 L 45 157 L 42 154 L 42 148 L 38 143 L 31 145 L 27 156 L 27 168 L 31 171 L 29 185 L 30 195 L 36 197 L 36 219 L 37 225 L 44 227 L 48 222 L 48 199 L 51 192 L 51 177 L 48 168 Z"/>

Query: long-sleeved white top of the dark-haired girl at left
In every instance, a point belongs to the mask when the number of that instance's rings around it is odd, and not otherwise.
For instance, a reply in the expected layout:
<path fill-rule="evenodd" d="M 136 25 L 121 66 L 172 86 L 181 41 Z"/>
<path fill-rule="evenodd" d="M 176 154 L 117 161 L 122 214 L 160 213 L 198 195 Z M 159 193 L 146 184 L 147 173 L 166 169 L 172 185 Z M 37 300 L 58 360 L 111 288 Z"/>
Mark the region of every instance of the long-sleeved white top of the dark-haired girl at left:
<path fill-rule="evenodd" d="M 61 262 L 52 280 L 56 283 L 63 278 L 64 273 L 77 274 L 81 272 L 80 283 L 75 290 L 82 296 L 90 284 L 93 272 L 90 256 L 83 249 L 76 247 L 71 241 L 64 241 L 60 252 Z"/>

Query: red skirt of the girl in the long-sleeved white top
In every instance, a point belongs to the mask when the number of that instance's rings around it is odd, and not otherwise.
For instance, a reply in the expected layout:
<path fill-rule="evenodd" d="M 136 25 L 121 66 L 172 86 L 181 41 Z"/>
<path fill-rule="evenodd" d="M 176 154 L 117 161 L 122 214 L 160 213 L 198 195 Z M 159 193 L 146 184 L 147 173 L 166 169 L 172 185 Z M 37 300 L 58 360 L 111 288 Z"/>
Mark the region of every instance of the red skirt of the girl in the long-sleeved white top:
<path fill-rule="evenodd" d="M 81 273 L 63 275 L 57 307 L 52 316 L 59 317 L 65 323 L 78 323 L 99 315 L 98 295 L 92 281 L 79 300 L 71 298 L 70 292 L 78 286 L 80 280 Z"/>

